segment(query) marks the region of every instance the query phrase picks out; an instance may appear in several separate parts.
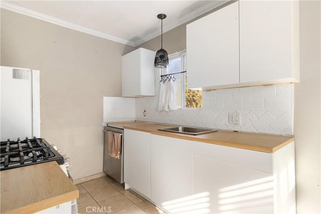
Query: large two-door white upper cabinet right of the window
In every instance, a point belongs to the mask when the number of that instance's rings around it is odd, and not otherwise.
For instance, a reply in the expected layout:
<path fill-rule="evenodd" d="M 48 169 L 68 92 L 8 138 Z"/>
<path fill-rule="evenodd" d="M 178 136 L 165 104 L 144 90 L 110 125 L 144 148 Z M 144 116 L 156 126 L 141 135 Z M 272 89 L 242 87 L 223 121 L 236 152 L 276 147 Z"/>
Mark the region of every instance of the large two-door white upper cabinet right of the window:
<path fill-rule="evenodd" d="M 187 25 L 188 87 L 299 82 L 298 1 L 238 1 Z"/>

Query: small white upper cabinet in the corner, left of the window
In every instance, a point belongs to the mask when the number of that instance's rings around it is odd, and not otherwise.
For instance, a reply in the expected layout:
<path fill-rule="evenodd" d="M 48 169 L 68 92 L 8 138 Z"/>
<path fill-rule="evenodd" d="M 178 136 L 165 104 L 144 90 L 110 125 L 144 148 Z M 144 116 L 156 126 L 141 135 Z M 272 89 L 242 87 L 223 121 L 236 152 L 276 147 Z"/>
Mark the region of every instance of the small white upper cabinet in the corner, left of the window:
<path fill-rule="evenodd" d="M 121 57 L 121 96 L 155 95 L 155 52 L 139 48 Z"/>

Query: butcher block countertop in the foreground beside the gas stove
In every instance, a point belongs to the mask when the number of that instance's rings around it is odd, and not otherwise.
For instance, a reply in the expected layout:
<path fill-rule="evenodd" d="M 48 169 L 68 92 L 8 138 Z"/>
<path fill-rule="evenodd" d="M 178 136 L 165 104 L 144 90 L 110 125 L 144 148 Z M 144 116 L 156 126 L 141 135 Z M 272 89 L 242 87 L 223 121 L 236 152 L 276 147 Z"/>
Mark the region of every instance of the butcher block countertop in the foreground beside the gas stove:
<path fill-rule="evenodd" d="M 1 213 L 35 213 L 78 196 L 56 161 L 1 171 Z"/>

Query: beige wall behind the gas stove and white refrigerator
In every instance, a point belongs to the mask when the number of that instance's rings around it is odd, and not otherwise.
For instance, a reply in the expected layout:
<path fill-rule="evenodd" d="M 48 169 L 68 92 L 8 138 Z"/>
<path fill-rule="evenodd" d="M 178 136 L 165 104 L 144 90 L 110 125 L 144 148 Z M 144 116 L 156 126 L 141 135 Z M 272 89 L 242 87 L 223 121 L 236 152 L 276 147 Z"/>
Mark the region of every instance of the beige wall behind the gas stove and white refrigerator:
<path fill-rule="evenodd" d="M 1 65 L 40 70 L 41 136 L 71 157 L 74 179 L 102 172 L 103 96 L 121 96 L 132 50 L 1 9 Z"/>

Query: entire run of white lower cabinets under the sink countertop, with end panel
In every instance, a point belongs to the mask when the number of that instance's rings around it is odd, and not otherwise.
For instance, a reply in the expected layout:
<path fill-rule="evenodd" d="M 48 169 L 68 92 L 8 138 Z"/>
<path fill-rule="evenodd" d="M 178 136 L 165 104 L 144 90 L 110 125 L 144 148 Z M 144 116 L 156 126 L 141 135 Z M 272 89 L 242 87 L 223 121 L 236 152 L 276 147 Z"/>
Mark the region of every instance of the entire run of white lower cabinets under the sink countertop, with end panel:
<path fill-rule="evenodd" d="M 295 213 L 294 142 L 267 153 L 124 133 L 125 183 L 168 213 Z"/>

